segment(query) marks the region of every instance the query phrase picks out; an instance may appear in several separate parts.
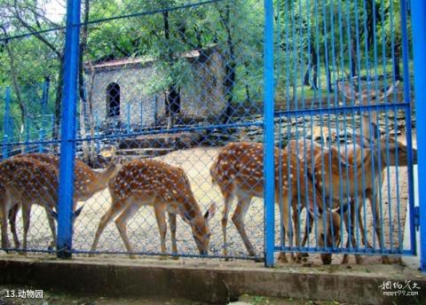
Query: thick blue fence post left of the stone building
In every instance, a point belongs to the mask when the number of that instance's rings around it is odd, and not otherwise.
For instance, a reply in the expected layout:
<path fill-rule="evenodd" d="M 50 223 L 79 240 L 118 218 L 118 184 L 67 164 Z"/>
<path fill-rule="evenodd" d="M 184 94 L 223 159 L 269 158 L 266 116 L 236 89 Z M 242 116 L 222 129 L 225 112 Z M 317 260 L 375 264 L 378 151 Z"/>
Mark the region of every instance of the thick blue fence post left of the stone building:
<path fill-rule="evenodd" d="M 67 33 L 61 113 L 58 257 L 71 257 L 73 240 L 72 209 L 75 159 L 75 110 L 77 100 L 78 55 L 81 0 L 67 0 Z"/>

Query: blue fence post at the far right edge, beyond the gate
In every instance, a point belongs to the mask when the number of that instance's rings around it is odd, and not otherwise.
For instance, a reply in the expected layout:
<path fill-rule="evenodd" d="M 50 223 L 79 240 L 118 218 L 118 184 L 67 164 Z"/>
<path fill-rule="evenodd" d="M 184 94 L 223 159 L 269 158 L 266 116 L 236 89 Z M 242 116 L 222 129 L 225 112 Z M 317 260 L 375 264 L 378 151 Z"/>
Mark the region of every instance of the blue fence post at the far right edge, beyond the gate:
<path fill-rule="evenodd" d="M 417 153 L 420 207 L 420 268 L 426 271 L 426 1 L 412 0 L 414 95 L 417 130 Z"/>

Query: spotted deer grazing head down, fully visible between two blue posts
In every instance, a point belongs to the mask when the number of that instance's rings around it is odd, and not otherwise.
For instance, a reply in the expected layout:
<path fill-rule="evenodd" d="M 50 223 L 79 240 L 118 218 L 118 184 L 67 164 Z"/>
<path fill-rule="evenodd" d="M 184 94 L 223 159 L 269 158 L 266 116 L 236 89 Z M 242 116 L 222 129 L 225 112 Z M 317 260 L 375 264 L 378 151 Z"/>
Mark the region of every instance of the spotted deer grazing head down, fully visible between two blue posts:
<path fill-rule="evenodd" d="M 215 214 L 216 206 L 212 204 L 205 215 L 201 214 L 201 209 L 193 196 L 191 184 L 182 168 L 172 167 L 158 160 L 133 160 L 122 166 L 122 169 L 109 181 L 108 188 L 112 198 L 111 207 L 100 220 L 91 251 L 96 250 L 106 224 L 115 215 L 121 213 L 115 220 L 115 224 L 130 253 L 130 258 L 134 258 L 135 255 L 131 254 L 133 247 L 127 236 L 127 223 L 140 207 L 152 206 L 160 231 L 162 254 L 166 254 L 166 212 L 169 214 L 172 253 L 177 254 L 176 215 L 178 214 L 191 226 L 193 239 L 200 254 L 208 254 L 209 219 Z"/>

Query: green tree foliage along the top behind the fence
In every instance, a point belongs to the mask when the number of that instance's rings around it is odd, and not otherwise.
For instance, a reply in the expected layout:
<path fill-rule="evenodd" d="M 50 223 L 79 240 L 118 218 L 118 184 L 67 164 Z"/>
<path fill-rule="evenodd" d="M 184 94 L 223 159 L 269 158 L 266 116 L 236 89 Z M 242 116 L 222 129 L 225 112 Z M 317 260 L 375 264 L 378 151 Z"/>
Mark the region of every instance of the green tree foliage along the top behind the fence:
<path fill-rule="evenodd" d="M 91 0 L 88 3 L 89 20 L 150 12 L 188 2 Z M 51 20 L 45 10 L 49 3 L 49 0 L 0 0 L 0 26 L 4 28 L 0 37 L 63 25 L 64 20 Z M 327 82 L 335 82 L 351 70 L 357 74 L 375 74 L 374 66 L 378 65 L 382 66 L 383 73 L 390 72 L 392 57 L 401 57 L 398 0 L 274 0 L 274 4 L 277 97 L 288 99 L 300 95 L 304 74 L 309 71 L 312 80 L 313 66 L 318 72 L 319 90 L 327 90 Z M 168 36 L 166 19 L 169 23 Z M 159 92 L 167 91 L 171 85 L 191 82 L 188 62 L 179 54 L 214 45 L 222 54 L 224 63 L 235 72 L 233 88 L 228 92 L 232 103 L 261 105 L 263 25 L 262 0 L 222 1 L 175 10 L 167 16 L 157 12 L 92 23 L 88 25 L 83 61 L 97 63 L 130 57 L 154 60 L 156 77 L 146 83 L 144 90 Z M 410 22 L 407 27 L 409 31 Z M 45 77 L 51 78 L 49 112 L 54 113 L 61 81 L 59 69 L 63 42 L 64 31 L 56 30 L 0 43 L 0 88 L 13 87 L 12 113 L 16 121 L 20 121 L 16 90 L 20 90 L 28 113 L 39 113 L 40 106 L 35 96 L 40 95 L 39 84 Z M 382 60 L 383 55 L 386 62 L 373 62 L 375 56 Z M 328 79 L 327 69 L 331 79 Z M 16 75 L 15 85 L 12 74 Z M 18 88 L 14 88 L 16 86 Z M 33 93 L 29 94 L 31 90 Z"/>

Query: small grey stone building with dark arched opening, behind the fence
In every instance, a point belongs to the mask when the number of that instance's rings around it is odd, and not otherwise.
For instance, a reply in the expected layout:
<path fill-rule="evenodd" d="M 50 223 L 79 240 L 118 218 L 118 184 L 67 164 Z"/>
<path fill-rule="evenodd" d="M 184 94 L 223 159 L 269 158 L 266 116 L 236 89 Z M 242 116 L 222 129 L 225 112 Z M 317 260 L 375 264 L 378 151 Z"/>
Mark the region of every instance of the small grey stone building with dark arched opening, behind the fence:
<path fill-rule="evenodd" d="M 225 67 L 217 48 L 180 56 L 177 86 L 179 117 L 185 121 L 218 118 L 225 110 Z M 150 58 L 116 59 L 86 67 L 86 90 L 91 90 L 95 120 L 103 126 L 119 121 L 132 129 L 164 121 L 167 85 L 162 68 Z M 92 83 L 88 84 L 89 80 Z M 160 88 L 160 89 L 159 89 Z"/>

